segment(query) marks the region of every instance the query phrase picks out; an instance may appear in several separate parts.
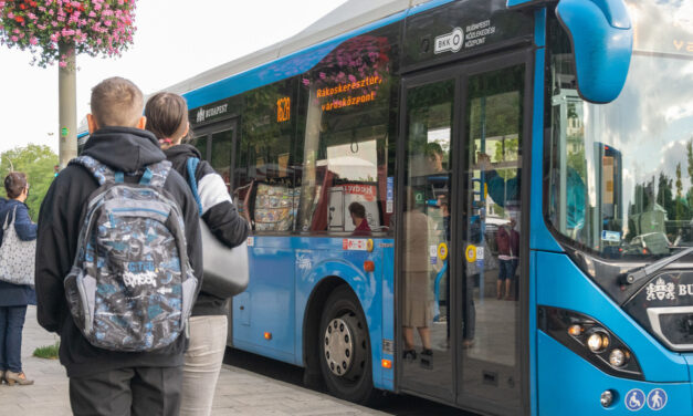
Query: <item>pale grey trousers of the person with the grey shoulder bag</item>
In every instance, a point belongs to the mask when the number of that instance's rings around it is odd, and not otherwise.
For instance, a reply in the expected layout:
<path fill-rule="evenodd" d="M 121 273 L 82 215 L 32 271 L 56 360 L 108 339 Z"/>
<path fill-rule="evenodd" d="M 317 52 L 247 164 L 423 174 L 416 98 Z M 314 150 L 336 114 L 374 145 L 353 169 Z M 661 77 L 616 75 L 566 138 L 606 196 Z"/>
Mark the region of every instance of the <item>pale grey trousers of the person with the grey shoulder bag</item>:
<path fill-rule="evenodd" d="M 182 376 L 181 416 L 204 416 L 212 412 L 214 389 L 227 349 L 227 316 L 190 318 L 190 345 Z"/>

